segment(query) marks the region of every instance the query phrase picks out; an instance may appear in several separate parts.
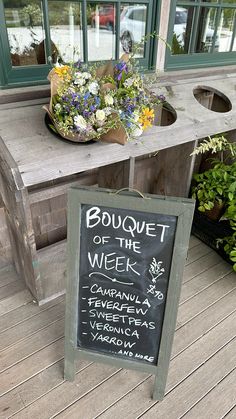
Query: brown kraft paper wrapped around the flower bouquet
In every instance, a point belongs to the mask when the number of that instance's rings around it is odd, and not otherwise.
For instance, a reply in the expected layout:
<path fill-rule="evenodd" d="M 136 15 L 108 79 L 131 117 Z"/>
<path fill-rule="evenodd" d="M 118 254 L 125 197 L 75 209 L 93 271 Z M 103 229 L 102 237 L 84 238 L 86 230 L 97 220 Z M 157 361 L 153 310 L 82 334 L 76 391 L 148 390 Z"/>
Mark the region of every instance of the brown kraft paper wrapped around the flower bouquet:
<path fill-rule="evenodd" d="M 129 60 L 129 56 L 128 54 L 123 54 L 121 57 L 121 60 L 128 62 Z M 100 77 L 104 77 L 104 76 L 113 76 L 114 75 L 114 70 L 113 70 L 113 65 L 111 62 L 98 67 L 96 70 L 96 75 L 98 78 Z M 112 128 L 110 129 L 107 133 L 102 134 L 100 138 L 96 139 L 95 138 L 95 131 L 94 134 L 90 133 L 89 135 L 84 135 L 84 134 L 72 134 L 72 133 L 64 133 L 62 130 L 59 129 L 54 116 L 53 116 L 53 110 L 52 110 L 52 99 L 53 96 L 55 96 L 57 94 L 58 88 L 60 86 L 60 84 L 62 83 L 62 80 L 60 78 L 60 76 L 55 73 L 54 69 L 52 69 L 50 71 L 50 73 L 48 74 L 48 80 L 50 81 L 51 84 L 51 98 L 50 98 L 50 103 L 49 106 L 45 105 L 43 106 L 43 109 L 48 113 L 52 124 L 55 126 L 55 129 L 57 130 L 58 134 L 60 134 L 60 136 L 62 138 L 65 138 L 66 140 L 69 141 L 73 141 L 73 142 L 87 142 L 90 141 L 92 139 L 97 140 L 97 141 L 104 141 L 106 143 L 118 143 L 121 145 L 124 145 L 127 140 L 128 140 L 128 135 L 127 132 L 125 130 L 125 128 L 123 127 L 123 125 L 121 124 L 121 122 L 118 119 L 118 116 L 114 113 L 111 115 L 111 118 L 113 119 L 117 119 L 117 127 L 116 128 Z M 115 89 L 115 86 L 112 83 L 106 83 L 103 85 L 103 90 L 108 90 L 108 89 Z"/>

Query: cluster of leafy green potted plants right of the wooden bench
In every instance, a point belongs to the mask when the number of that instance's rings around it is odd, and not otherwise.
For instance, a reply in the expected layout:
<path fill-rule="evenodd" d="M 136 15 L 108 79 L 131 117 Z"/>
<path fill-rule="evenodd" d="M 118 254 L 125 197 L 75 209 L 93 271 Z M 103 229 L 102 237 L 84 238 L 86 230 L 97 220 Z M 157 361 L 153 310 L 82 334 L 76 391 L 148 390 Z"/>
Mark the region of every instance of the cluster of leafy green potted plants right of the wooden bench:
<path fill-rule="evenodd" d="M 219 158 L 210 159 L 210 168 L 193 177 L 192 197 L 197 201 L 193 233 L 236 270 L 236 143 L 216 136 L 204 140 L 192 154 L 209 151 Z"/>

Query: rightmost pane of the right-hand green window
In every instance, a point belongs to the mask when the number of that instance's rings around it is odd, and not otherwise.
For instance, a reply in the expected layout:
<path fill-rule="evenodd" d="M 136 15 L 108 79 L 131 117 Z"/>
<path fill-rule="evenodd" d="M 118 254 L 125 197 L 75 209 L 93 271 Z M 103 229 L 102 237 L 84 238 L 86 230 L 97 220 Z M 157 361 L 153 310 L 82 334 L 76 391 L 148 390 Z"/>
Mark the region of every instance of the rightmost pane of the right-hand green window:
<path fill-rule="evenodd" d="M 222 9 L 220 24 L 217 31 L 217 40 L 220 52 L 229 52 L 231 49 L 235 19 L 236 10 Z"/>

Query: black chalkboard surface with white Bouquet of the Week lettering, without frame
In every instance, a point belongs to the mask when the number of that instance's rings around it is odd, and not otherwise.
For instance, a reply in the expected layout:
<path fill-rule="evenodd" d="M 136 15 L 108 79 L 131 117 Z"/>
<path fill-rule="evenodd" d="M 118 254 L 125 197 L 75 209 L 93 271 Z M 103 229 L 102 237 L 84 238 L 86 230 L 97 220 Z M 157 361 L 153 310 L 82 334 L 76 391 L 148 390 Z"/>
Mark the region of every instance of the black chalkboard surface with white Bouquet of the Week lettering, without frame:
<path fill-rule="evenodd" d="M 176 223 L 82 205 L 78 347 L 156 364 Z"/>

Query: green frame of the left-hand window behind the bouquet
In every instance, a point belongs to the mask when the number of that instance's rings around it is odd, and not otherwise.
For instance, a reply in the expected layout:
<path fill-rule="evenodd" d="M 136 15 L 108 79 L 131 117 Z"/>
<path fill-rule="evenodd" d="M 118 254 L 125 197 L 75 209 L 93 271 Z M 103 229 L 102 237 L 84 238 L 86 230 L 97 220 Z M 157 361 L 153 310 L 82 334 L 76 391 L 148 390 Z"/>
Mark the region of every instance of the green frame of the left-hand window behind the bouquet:
<path fill-rule="evenodd" d="M 46 57 L 51 56 L 50 45 L 50 26 L 48 13 L 48 0 L 41 0 L 43 8 L 43 27 L 45 32 L 45 54 Z M 64 0 L 58 0 L 64 1 Z M 120 6 L 122 3 L 146 4 L 147 5 L 147 20 L 146 31 L 153 32 L 158 30 L 158 15 L 160 11 L 161 0 L 72 0 L 81 3 L 82 8 L 82 27 L 83 27 L 83 57 L 84 62 L 88 62 L 88 54 L 86 54 L 88 45 L 87 39 L 87 19 L 86 10 L 87 3 L 113 3 L 116 7 L 116 31 L 120 34 Z M 150 30 L 149 30 L 150 29 Z M 119 35 L 116 36 L 116 56 L 117 60 L 119 52 Z M 156 58 L 157 42 L 150 38 L 145 44 L 144 58 L 137 59 L 139 66 L 142 69 L 150 71 L 154 68 L 154 59 Z M 29 66 L 15 66 L 11 64 L 10 46 L 8 41 L 7 26 L 5 22 L 4 4 L 0 0 L 0 56 L 3 58 L 0 62 L 0 89 L 19 86 L 30 86 L 47 84 L 47 74 L 52 68 L 50 64 L 29 65 Z"/>

